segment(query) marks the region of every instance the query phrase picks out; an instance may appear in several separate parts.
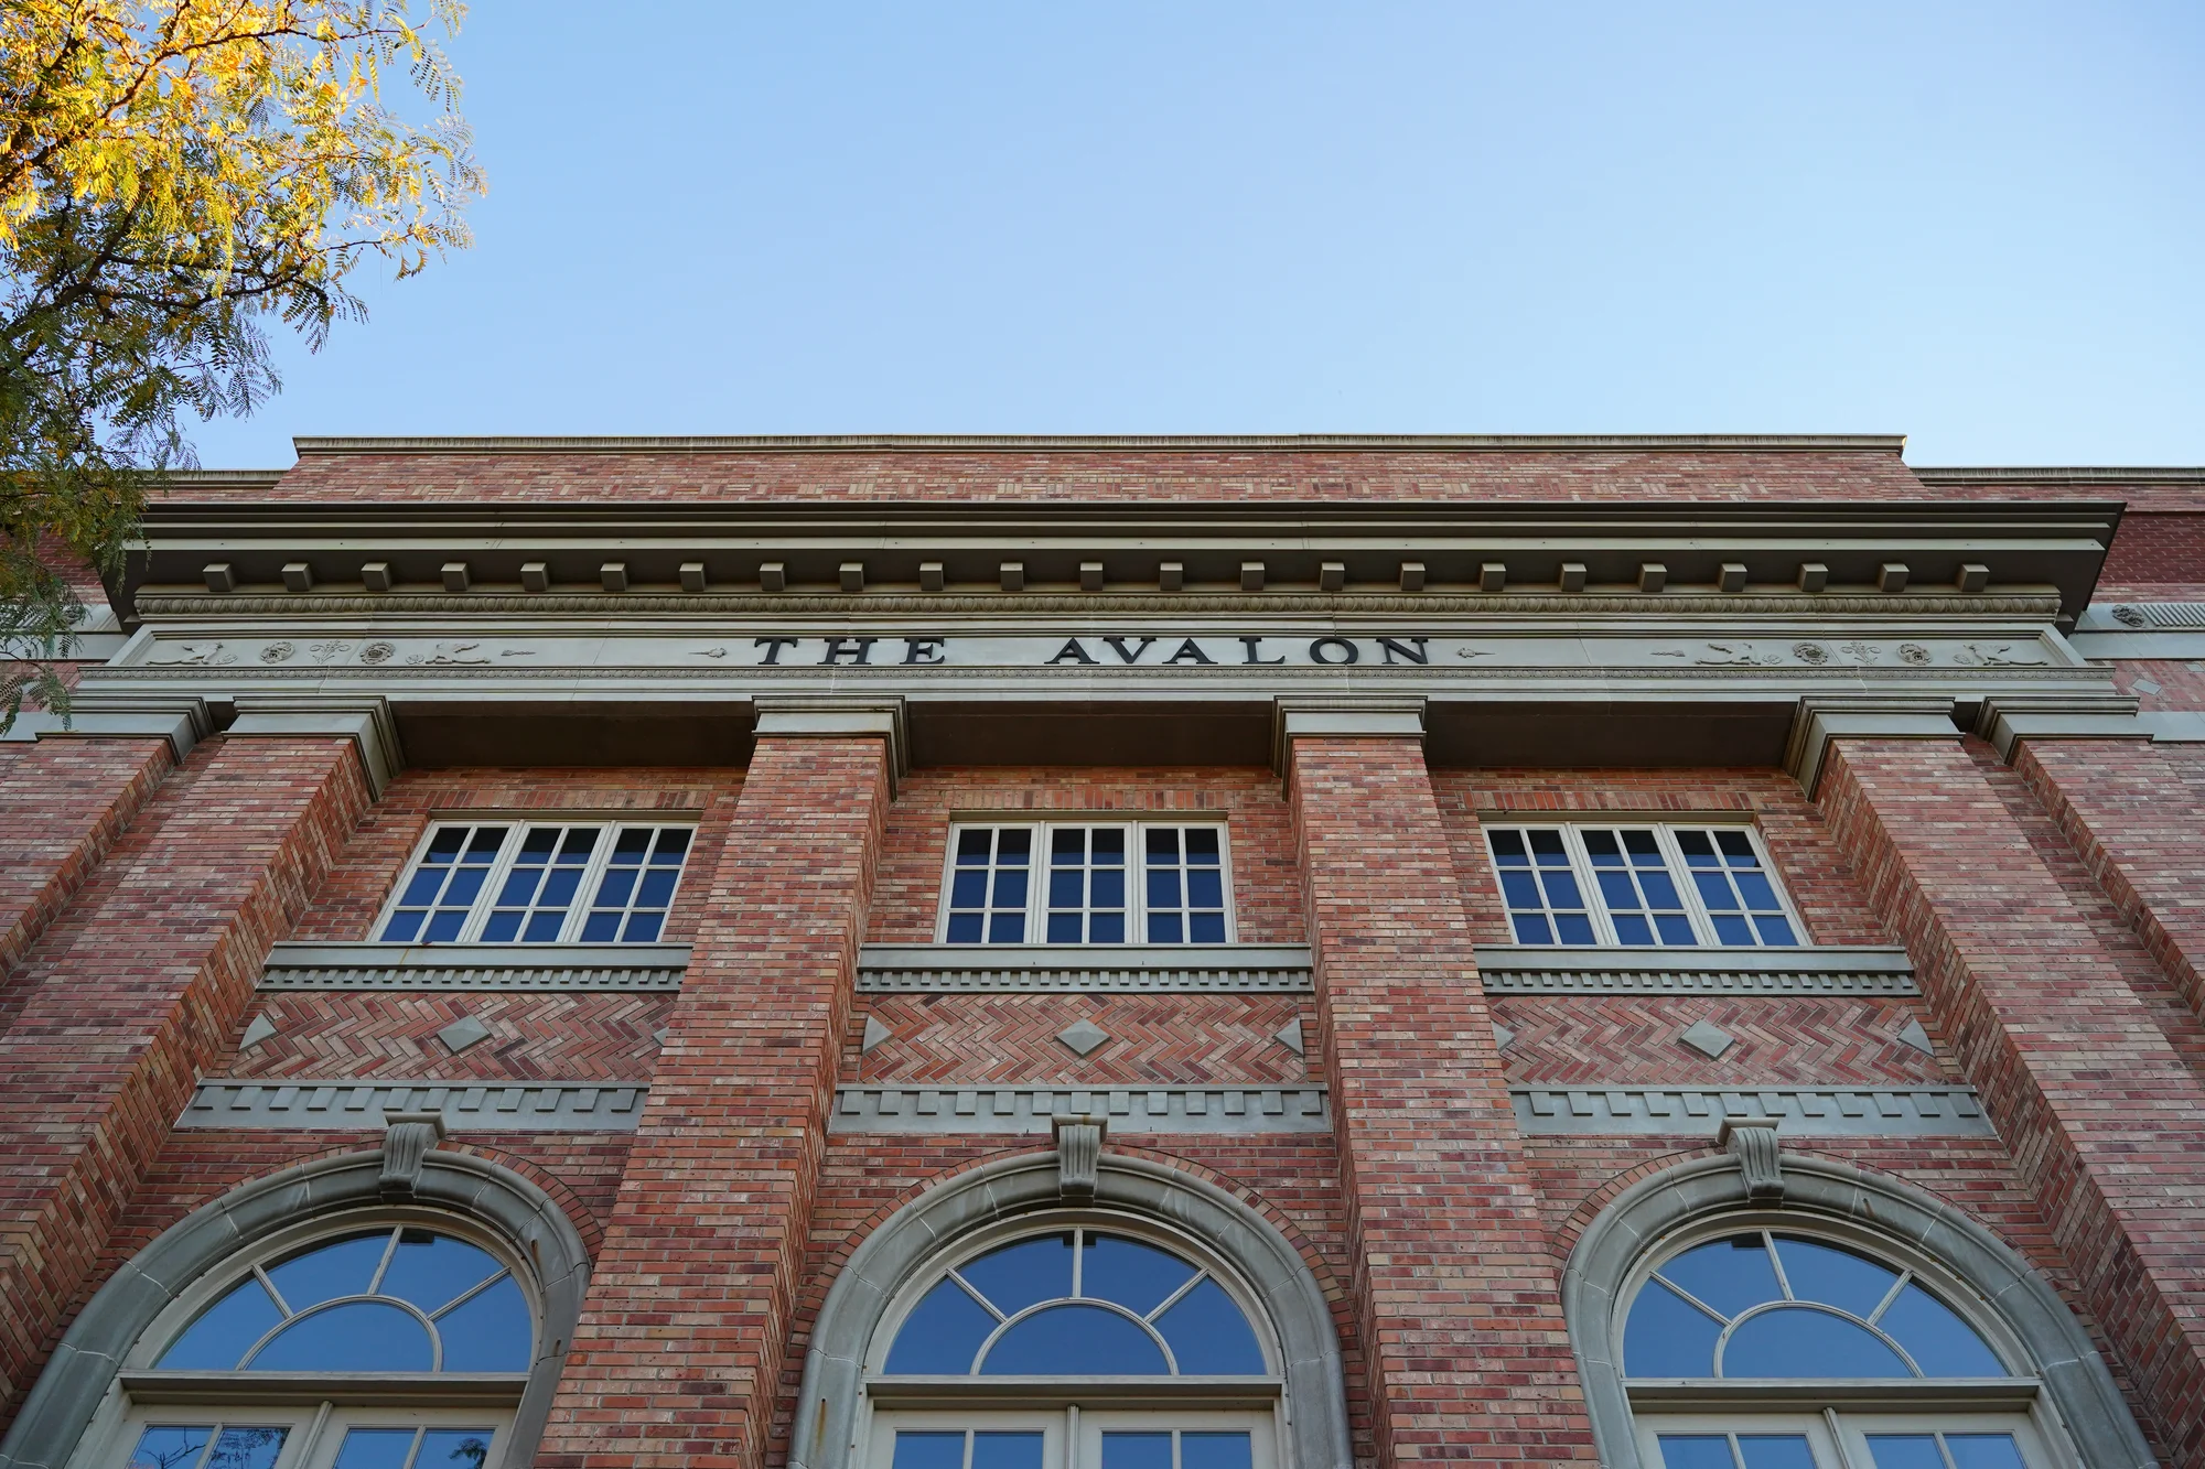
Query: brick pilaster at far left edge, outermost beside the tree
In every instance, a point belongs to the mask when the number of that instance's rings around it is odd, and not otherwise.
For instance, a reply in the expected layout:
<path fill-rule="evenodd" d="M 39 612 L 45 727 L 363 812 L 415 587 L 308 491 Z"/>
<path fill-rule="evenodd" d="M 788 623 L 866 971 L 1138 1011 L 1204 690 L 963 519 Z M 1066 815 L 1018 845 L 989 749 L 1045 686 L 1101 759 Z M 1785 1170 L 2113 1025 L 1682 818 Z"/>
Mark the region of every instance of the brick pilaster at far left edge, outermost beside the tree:
<path fill-rule="evenodd" d="M 165 739 L 42 739 L 0 752 L 0 977 L 172 768 Z"/>

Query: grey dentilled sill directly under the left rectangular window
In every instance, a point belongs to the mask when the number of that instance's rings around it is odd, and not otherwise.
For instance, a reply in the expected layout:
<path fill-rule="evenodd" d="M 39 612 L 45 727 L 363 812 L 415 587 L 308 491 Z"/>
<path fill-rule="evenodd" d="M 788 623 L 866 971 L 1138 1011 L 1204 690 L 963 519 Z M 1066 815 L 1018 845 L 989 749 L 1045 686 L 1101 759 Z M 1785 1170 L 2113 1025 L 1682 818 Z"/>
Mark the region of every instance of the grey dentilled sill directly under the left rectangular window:
<path fill-rule="evenodd" d="M 688 944 L 276 944 L 262 990 L 679 990 Z"/>

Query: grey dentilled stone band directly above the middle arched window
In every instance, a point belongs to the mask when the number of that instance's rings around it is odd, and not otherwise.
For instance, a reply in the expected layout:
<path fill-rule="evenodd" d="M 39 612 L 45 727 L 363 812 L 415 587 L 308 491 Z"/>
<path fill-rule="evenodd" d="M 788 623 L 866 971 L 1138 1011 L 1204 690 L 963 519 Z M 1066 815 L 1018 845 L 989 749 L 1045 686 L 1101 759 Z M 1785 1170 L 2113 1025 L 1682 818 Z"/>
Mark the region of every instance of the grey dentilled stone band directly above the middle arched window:
<path fill-rule="evenodd" d="M 1047 1136 L 1056 1118 L 1107 1118 L 1131 1132 L 1332 1132 L 1325 1087 L 836 1087 L 829 1132 L 1014 1132 Z"/>

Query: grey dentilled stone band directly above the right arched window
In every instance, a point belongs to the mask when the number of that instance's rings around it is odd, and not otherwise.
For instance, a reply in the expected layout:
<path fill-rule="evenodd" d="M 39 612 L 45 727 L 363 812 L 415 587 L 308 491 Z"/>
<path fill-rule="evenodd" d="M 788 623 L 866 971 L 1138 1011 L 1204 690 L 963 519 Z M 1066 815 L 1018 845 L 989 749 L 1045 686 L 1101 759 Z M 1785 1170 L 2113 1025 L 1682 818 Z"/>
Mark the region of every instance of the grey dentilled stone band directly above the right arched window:
<path fill-rule="evenodd" d="M 1707 1136 L 1773 1118 L 1786 1138 L 1991 1138 L 1973 1087 L 1508 1087 L 1535 1136 Z"/>

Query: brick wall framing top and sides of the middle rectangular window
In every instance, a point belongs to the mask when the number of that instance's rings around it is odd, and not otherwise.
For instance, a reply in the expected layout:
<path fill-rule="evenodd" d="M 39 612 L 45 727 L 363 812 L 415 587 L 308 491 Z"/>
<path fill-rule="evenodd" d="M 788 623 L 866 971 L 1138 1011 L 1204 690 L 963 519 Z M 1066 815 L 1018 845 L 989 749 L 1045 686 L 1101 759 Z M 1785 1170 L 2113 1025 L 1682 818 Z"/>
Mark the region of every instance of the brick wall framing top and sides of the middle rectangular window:
<path fill-rule="evenodd" d="M 1294 832 L 1268 770 L 922 770 L 889 812 L 873 944 L 931 944 L 950 821 L 1224 821 L 1244 944 L 1301 944 Z"/>

